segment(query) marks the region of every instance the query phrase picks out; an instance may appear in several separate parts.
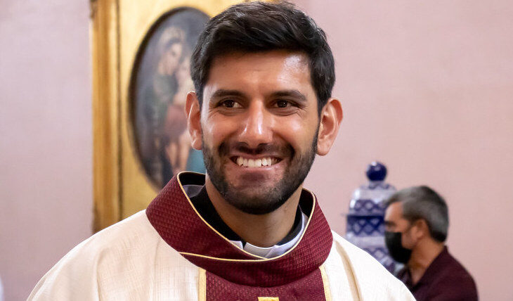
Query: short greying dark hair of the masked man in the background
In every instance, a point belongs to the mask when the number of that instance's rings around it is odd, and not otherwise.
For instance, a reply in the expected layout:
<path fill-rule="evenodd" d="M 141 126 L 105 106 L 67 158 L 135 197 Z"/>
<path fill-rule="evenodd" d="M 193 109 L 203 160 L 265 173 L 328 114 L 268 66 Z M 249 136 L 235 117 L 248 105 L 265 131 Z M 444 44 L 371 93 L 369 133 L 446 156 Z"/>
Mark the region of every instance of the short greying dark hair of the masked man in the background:
<path fill-rule="evenodd" d="M 391 203 L 403 204 L 403 217 L 409 222 L 424 219 L 429 226 L 429 234 L 439 242 L 447 239 L 449 228 L 449 212 L 446 201 L 428 186 L 405 188 L 394 193 L 388 200 Z"/>

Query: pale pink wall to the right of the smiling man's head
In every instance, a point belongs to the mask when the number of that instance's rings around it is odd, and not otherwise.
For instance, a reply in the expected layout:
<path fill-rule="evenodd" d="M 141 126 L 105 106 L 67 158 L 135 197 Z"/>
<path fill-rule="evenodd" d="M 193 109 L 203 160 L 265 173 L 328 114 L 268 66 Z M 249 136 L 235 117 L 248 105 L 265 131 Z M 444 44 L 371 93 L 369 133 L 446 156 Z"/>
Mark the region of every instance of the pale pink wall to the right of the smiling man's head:
<path fill-rule="evenodd" d="M 512 300 L 513 4 L 295 1 L 335 53 L 344 121 L 306 186 L 339 233 L 372 160 L 447 200 L 448 245 L 481 300 Z"/>

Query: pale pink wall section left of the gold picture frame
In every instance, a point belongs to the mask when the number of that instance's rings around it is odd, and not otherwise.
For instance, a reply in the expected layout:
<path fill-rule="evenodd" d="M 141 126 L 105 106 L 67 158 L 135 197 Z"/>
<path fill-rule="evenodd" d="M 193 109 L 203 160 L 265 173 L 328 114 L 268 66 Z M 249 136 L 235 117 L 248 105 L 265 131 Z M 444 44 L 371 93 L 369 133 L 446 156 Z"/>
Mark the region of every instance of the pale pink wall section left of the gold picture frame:
<path fill-rule="evenodd" d="M 2 0 L 0 277 L 25 300 L 91 233 L 88 1 Z"/>

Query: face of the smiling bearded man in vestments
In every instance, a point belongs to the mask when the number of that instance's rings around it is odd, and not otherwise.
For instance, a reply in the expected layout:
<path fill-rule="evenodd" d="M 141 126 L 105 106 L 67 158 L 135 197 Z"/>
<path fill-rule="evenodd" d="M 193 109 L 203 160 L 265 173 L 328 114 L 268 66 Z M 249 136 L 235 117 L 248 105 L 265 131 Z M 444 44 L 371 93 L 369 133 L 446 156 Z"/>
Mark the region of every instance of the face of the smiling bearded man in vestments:
<path fill-rule="evenodd" d="M 209 180 L 239 210 L 277 209 L 303 183 L 316 154 L 318 112 L 302 53 L 233 53 L 214 59 L 201 108 Z"/>

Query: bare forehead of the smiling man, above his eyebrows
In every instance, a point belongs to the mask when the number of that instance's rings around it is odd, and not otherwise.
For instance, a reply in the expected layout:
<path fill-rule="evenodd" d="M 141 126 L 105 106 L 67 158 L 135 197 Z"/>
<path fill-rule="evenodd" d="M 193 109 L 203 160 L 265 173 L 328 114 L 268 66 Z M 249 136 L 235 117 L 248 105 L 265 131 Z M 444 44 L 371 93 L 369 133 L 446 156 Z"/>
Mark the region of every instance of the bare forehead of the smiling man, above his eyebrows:
<path fill-rule="evenodd" d="M 204 86 L 208 95 L 217 89 L 265 92 L 296 89 L 307 98 L 315 96 L 309 58 L 301 52 L 266 51 L 228 53 L 214 58 Z"/>

